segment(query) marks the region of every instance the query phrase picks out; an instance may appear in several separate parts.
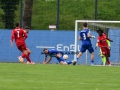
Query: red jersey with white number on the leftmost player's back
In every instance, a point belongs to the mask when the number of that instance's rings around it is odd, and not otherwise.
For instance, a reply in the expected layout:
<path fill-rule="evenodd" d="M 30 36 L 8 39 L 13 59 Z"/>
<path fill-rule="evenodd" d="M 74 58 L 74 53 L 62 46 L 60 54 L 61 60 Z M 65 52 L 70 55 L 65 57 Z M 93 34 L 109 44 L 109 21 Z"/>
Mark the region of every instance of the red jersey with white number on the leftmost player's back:
<path fill-rule="evenodd" d="M 13 42 L 15 39 L 17 46 L 24 44 L 25 38 L 27 38 L 27 35 L 22 28 L 15 28 L 12 30 L 11 41 Z"/>

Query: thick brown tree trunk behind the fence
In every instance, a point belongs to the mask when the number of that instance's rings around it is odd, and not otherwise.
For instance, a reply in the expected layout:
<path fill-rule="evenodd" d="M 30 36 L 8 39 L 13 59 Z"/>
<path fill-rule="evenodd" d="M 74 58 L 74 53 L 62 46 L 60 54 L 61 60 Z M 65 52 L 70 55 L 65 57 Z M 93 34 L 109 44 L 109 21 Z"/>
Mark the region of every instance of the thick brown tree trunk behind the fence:
<path fill-rule="evenodd" d="M 23 27 L 31 27 L 33 0 L 26 0 L 23 12 Z"/>

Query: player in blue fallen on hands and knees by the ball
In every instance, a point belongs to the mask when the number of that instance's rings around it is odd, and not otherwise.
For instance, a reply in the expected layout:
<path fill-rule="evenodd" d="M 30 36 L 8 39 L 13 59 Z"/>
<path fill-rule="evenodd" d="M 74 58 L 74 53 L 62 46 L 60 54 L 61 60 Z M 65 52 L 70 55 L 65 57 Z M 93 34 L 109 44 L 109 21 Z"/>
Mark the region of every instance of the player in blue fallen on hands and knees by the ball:
<path fill-rule="evenodd" d="M 74 61 L 75 61 L 75 60 L 72 60 L 72 61 L 66 61 L 66 60 L 64 60 L 63 59 L 64 53 L 61 52 L 61 51 L 58 51 L 58 50 L 53 50 L 53 49 L 52 50 L 48 50 L 47 48 L 44 48 L 43 52 L 45 54 L 45 58 L 44 58 L 43 64 L 49 63 L 52 60 L 52 57 L 57 58 L 57 60 L 59 61 L 59 63 L 61 65 L 69 65 L 69 64 L 74 63 Z M 50 57 L 48 60 L 47 60 L 47 56 Z"/>

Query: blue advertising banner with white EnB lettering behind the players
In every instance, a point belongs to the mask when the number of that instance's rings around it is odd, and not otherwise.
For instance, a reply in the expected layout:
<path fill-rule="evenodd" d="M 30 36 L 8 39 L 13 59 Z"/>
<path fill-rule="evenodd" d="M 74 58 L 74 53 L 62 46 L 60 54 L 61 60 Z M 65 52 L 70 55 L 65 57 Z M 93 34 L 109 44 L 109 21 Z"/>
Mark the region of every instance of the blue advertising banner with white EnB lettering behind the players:
<path fill-rule="evenodd" d="M 116 32 L 116 33 L 115 33 Z M 110 38 L 115 39 L 115 34 L 118 30 L 110 30 Z M 44 59 L 43 49 L 57 49 L 59 51 L 64 52 L 69 55 L 69 60 L 74 59 L 74 31 L 50 31 L 50 30 L 30 30 L 28 33 L 28 38 L 26 39 L 26 45 L 31 50 L 30 58 L 35 63 L 42 63 Z M 98 36 L 96 32 L 92 32 L 91 34 L 94 36 Z M 10 36 L 11 30 L 0 30 L 0 62 L 19 62 L 18 56 L 21 55 L 21 52 L 17 49 L 15 43 L 12 47 L 10 45 Z M 118 35 L 119 36 L 119 35 Z M 120 40 L 116 39 L 115 43 L 119 45 L 118 42 Z M 93 48 L 95 48 L 97 39 L 91 39 Z M 113 42 L 114 43 L 114 42 Z M 111 44 L 111 58 L 112 62 L 118 62 L 119 60 L 119 47 L 117 50 L 113 48 L 113 43 Z M 78 41 L 78 51 L 81 46 L 81 41 Z M 119 45 L 120 46 L 120 45 Z M 95 64 L 101 64 L 101 57 L 98 56 L 99 49 L 95 51 Z M 117 53 L 116 53 L 117 52 Z M 114 56 L 113 56 L 114 55 Z M 110 58 L 110 59 L 111 59 Z M 26 61 L 26 60 L 25 60 Z M 56 58 L 53 58 L 50 63 L 58 63 Z M 85 52 L 80 59 L 78 60 L 78 64 L 90 64 L 90 54 L 89 52 Z"/>

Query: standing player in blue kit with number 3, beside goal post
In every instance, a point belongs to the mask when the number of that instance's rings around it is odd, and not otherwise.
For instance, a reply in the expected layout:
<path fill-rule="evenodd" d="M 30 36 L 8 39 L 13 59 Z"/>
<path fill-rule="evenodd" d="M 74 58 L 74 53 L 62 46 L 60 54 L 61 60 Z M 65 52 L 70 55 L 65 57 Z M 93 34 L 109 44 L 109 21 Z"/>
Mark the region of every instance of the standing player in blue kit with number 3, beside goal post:
<path fill-rule="evenodd" d="M 80 31 L 79 33 L 79 40 L 82 41 L 82 45 L 80 48 L 80 52 L 77 55 L 76 61 L 80 58 L 80 56 L 88 50 L 89 53 L 91 54 L 91 65 L 94 65 L 94 49 L 92 47 L 92 43 L 90 38 L 95 38 L 95 36 L 90 35 L 90 30 L 88 29 L 87 23 L 83 23 L 83 30 Z M 75 65 L 76 62 L 73 63 Z"/>

